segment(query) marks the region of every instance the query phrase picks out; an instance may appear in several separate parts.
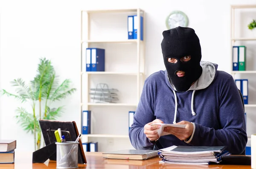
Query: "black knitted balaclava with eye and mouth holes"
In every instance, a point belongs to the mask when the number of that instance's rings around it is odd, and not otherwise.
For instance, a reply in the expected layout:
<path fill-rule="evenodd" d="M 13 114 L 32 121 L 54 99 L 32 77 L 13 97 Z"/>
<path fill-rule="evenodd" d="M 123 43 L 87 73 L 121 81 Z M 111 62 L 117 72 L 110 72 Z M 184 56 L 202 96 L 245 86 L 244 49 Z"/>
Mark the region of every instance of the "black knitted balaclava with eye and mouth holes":
<path fill-rule="evenodd" d="M 163 61 L 172 85 L 179 92 L 187 91 L 202 74 L 201 46 L 195 30 L 186 27 L 177 27 L 163 32 L 163 41 L 161 43 Z M 180 59 L 185 56 L 191 56 L 187 62 L 181 62 Z M 169 63 L 168 58 L 177 59 L 177 63 Z M 178 77 L 176 72 L 184 71 L 185 76 Z"/>

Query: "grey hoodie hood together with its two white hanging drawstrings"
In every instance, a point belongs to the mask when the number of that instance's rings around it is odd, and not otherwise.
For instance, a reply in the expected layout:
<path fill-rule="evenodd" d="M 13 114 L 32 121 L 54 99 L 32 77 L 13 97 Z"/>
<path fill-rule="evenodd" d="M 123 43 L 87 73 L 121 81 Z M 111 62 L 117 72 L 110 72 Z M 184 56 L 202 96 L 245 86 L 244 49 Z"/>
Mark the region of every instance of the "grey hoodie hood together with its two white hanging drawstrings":
<path fill-rule="evenodd" d="M 215 77 L 217 76 L 217 68 L 218 68 L 217 64 L 206 62 L 206 61 L 201 61 L 200 65 L 203 69 L 203 72 L 202 72 L 201 76 L 187 90 L 187 91 L 190 91 L 190 90 L 193 91 L 192 96 L 191 96 L 191 113 L 192 113 L 193 116 L 196 115 L 196 113 L 194 112 L 195 91 L 207 88 L 213 82 Z M 172 89 L 172 92 L 175 96 L 175 113 L 174 113 L 174 120 L 173 120 L 173 123 L 175 124 L 176 123 L 176 116 L 177 116 L 177 107 L 178 107 L 176 92 L 178 92 L 178 91 L 175 89 L 174 85 L 170 81 L 170 78 L 167 75 L 167 71 L 165 71 L 165 80 L 166 80 L 167 85 Z"/>

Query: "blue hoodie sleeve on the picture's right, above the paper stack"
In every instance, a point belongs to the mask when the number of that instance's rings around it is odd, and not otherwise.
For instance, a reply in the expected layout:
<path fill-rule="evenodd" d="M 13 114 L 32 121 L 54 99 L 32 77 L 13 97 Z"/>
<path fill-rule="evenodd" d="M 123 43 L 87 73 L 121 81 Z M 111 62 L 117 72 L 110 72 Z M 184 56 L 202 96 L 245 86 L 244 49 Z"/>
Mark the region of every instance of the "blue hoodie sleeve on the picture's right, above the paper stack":
<path fill-rule="evenodd" d="M 241 154 L 247 143 L 242 100 L 233 77 L 229 77 L 219 89 L 220 129 L 195 123 L 192 146 L 227 146 L 231 154 Z"/>

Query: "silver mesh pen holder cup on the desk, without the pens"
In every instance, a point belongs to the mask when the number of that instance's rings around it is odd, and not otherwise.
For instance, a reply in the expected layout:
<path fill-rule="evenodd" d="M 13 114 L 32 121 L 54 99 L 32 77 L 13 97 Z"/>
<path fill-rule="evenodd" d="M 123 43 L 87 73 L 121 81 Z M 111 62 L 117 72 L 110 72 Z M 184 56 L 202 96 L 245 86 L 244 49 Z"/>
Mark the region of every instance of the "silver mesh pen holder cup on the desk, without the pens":
<path fill-rule="evenodd" d="M 78 168 L 78 144 L 79 142 L 67 141 L 66 143 L 56 142 L 56 163 L 57 169 Z"/>

